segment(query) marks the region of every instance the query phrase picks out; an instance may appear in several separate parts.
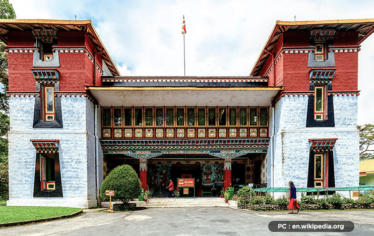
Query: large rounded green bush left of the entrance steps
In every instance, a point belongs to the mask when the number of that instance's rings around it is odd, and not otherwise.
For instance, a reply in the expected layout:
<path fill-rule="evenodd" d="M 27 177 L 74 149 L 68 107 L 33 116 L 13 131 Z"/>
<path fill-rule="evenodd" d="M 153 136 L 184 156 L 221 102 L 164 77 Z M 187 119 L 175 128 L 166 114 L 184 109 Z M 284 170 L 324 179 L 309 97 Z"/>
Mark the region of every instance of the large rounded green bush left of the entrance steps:
<path fill-rule="evenodd" d="M 105 195 L 106 190 L 114 191 L 114 199 L 119 199 L 123 203 L 128 203 L 131 198 L 137 198 L 141 193 L 140 180 L 137 173 L 130 165 L 115 167 L 106 176 L 100 187 L 100 198 L 109 199 Z"/>

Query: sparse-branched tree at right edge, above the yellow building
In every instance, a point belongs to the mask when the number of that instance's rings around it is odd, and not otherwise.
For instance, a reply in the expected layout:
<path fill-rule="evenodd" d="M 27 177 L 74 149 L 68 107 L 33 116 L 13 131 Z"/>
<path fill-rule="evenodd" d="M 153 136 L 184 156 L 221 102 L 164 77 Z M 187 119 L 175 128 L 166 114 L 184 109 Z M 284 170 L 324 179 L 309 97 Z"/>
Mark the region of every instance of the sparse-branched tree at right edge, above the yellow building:
<path fill-rule="evenodd" d="M 374 158 L 374 125 L 359 126 L 360 130 L 360 160 Z"/>

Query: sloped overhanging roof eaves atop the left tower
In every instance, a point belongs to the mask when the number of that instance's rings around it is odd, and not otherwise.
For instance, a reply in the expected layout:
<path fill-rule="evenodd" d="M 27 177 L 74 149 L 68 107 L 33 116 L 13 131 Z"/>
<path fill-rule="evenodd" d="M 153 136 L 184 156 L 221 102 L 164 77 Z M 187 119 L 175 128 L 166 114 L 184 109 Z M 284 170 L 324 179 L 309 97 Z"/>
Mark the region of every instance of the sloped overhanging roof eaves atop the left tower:
<path fill-rule="evenodd" d="M 116 68 L 112 58 L 101 42 L 99 35 L 92 25 L 91 20 L 84 21 L 66 21 L 66 20 L 25 20 L 25 19 L 4 19 L 0 20 L 0 39 L 8 44 L 8 33 L 11 31 L 31 31 L 37 29 L 53 29 L 56 31 L 81 31 L 86 32 L 90 37 L 97 51 L 104 51 L 101 53 L 105 64 L 108 66 L 110 72 L 119 76 L 119 71 Z"/>

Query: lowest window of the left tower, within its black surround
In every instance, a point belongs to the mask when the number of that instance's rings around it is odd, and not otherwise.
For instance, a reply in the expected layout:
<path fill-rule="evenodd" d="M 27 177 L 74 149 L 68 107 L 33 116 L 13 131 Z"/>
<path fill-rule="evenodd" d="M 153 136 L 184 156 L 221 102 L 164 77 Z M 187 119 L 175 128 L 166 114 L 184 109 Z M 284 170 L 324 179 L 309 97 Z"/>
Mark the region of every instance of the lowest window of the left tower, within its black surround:
<path fill-rule="evenodd" d="M 40 188 L 54 190 L 54 156 L 40 156 Z"/>

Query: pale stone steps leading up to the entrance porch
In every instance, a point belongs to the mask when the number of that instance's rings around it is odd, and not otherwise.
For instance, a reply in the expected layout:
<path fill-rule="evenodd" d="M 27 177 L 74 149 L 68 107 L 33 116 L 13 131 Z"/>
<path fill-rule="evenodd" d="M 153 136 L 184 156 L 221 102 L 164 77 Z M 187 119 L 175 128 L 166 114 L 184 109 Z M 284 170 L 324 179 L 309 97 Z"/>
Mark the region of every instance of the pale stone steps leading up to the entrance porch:
<path fill-rule="evenodd" d="M 137 200 L 137 199 L 135 199 Z M 112 202 L 112 204 L 119 202 Z M 130 201 L 136 203 L 137 207 L 231 207 L 236 208 L 235 201 L 228 201 L 225 203 L 223 198 L 218 197 L 196 197 L 196 198 L 150 198 L 147 202 L 144 201 Z M 103 207 L 109 207 L 108 202 L 102 202 Z"/>

